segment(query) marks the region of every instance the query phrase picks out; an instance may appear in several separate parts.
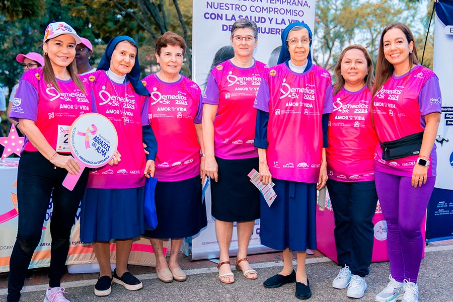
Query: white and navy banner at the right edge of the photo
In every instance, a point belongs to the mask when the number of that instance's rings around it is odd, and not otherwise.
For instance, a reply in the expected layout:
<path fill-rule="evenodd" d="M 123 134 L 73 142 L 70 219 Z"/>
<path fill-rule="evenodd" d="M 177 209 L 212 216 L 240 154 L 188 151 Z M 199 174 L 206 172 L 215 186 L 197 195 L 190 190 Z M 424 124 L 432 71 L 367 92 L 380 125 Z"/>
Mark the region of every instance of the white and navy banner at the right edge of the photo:
<path fill-rule="evenodd" d="M 441 121 L 437 131 L 437 177 L 428 206 L 426 239 L 453 237 L 453 1 L 435 5 L 434 72 L 442 93 Z"/>

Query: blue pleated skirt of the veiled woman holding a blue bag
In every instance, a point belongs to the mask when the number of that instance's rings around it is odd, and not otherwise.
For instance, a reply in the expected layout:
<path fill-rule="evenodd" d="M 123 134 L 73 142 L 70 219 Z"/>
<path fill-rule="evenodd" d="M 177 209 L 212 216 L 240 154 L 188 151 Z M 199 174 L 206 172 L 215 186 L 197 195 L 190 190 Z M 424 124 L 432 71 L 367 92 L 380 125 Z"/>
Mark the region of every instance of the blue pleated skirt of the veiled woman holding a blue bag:
<path fill-rule="evenodd" d="M 80 239 L 83 242 L 129 239 L 144 232 L 144 187 L 90 189 L 81 203 Z"/>

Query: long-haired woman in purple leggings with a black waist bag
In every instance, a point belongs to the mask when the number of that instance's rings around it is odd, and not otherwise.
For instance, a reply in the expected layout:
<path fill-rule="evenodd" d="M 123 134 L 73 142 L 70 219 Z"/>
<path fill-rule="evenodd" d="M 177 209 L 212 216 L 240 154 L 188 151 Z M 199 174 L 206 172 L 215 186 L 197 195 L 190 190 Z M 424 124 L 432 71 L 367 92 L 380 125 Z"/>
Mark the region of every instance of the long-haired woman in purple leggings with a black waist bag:
<path fill-rule="evenodd" d="M 387 26 L 379 42 L 373 89 L 373 121 L 380 141 L 374 178 L 387 220 L 391 272 L 387 287 L 375 297 L 379 302 L 418 302 L 421 224 L 436 179 L 434 139 L 441 100 L 439 80 L 419 65 L 409 27 Z"/>

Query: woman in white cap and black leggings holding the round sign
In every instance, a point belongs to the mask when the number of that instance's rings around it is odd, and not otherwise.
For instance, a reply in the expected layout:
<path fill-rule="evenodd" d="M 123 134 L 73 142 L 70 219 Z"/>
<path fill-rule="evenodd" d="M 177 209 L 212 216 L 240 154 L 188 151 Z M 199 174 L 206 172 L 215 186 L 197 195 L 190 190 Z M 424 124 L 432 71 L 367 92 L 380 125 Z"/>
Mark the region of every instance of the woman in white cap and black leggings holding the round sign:
<path fill-rule="evenodd" d="M 25 274 L 41 239 L 50 197 L 51 260 L 44 302 L 68 301 L 60 281 L 72 224 L 89 171 L 80 172 L 79 163 L 65 144 L 64 131 L 58 129 L 68 129 L 80 116 L 80 109 L 73 104 L 84 102 L 89 107 L 87 111 L 92 107 L 87 89 L 76 73 L 74 57 L 78 43 L 80 37 L 66 23 L 49 24 L 43 40 L 45 65 L 24 73 L 13 102 L 11 118 L 19 122 L 26 137 L 17 177 L 20 211 L 17 240 L 10 259 L 8 302 L 17 302 L 21 297 Z M 81 173 L 72 191 L 62 186 L 68 172 Z"/>

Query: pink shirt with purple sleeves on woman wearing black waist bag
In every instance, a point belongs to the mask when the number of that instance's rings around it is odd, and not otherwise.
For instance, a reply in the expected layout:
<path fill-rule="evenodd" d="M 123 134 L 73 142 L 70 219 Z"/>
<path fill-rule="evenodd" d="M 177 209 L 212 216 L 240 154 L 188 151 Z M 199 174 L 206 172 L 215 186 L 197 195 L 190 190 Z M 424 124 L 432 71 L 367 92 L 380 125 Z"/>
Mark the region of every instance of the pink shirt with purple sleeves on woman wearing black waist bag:
<path fill-rule="evenodd" d="M 392 75 L 373 97 L 374 127 L 380 141 L 391 141 L 421 132 L 424 115 L 440 112 L 442 99 L 435 73 L 417 65 L 408 73 Z M 436 145 L 433 145 L 428 176 L 436 175 Z M 374 169 L 399 176 L 412 176 L 418 155 L 384 161 L 379 143 L 375 147 Z"/>

